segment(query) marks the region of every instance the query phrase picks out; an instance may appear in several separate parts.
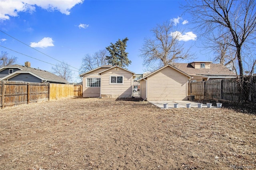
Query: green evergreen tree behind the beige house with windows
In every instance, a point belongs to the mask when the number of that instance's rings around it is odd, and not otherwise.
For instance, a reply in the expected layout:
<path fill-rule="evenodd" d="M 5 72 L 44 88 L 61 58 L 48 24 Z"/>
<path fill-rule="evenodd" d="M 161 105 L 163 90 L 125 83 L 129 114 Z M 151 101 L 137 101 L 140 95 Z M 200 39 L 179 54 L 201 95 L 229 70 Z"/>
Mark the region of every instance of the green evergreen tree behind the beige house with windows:
<path fill-rule="evenodd" d="M 128 38 L 124 38 L 122 41 L 118 39 L 116 43 L 111 43 L 110 46 L 106 47 L 106 49 L 109 51 L 110 56 L 106 56 L 106 60 L 108 60 L 108 64 L 110 65 L 118 65 L 120 67 L 126 67 L 132 61 L 128 59 L 128 53 L 125 52 L 126 50 L 126 42 L 128 41 Z"/>

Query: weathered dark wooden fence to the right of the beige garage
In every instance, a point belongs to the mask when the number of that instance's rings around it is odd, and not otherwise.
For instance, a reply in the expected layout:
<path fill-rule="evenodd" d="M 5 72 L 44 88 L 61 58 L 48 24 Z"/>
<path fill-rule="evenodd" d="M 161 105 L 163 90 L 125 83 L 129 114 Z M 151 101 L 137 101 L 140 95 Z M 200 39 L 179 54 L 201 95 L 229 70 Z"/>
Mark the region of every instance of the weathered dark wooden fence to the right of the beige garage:
<path fill-rule="evenodd" d="M 246 92 L 244 92 L 246 93 Z M 256 102 L 256 82 L 254 82 L 251 94 Z M 217 79 L 188 83 L 188 95 L 194 95 L 195 99 L 220 99 L 224 101 L 239 101 L 239 91 L 236 79 Z"/>

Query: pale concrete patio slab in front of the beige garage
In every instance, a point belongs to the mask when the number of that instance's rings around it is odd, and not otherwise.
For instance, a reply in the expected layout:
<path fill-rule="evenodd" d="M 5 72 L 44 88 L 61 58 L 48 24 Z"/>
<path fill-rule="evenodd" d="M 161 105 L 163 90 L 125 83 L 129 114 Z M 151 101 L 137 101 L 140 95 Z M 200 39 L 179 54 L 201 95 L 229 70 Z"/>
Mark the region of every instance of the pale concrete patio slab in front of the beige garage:
<path fill-rule="evenodd" d="M 190 103 L 192 108 L 198 108 L 198 103 L 194 101 L 148 101 L 152 103 L 153 105 L 156 105 L 157 107 L 161 109 L 172 109 L 174 108 L 174 103 L 178 103 L 178 108 L 187 108 L 187 103 Z M 164 108 L 164 103 L 168 103 L 168 107 Z M 206 104 L 202 105 L 202 108 L 207 108 Z M 216 106 L 212 105 L 212 108 L 217 108 Z"/>

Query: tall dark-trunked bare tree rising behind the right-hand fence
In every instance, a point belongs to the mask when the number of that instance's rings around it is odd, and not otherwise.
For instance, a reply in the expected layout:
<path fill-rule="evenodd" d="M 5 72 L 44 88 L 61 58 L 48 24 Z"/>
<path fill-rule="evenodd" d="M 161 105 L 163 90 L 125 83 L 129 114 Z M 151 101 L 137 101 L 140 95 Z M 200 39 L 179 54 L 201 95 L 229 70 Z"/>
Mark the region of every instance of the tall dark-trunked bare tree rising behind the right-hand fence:
<path fill-rule="evenodd" d="M 229 38 L 228 45 L 235 48 L 239 74 L 243 76 L 246 59 L 242 56 L 244 44 L 255 43 L 256 1 L 188 0 L 183 8 L 192 14 L 197 29 L 205 37 L 212 32 L 218 36 L 218 30 L 221 30 L 221 36 Z"/>

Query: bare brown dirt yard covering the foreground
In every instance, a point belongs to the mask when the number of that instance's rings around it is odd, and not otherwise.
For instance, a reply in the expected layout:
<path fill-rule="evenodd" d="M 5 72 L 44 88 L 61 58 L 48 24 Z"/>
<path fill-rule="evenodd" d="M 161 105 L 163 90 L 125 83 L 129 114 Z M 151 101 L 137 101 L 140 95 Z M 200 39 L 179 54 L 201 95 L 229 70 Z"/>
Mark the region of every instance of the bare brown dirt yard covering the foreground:
<path fill-rule="evenodd" d="M 0 169 L 256 169 L 255 129 L 256 115 L 224 108 L 34 103 L 0 110 Z"/>

